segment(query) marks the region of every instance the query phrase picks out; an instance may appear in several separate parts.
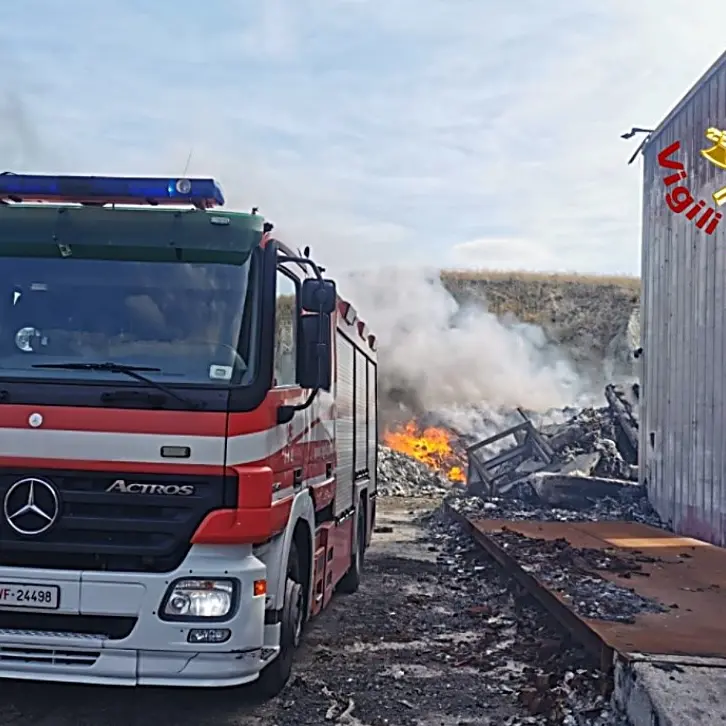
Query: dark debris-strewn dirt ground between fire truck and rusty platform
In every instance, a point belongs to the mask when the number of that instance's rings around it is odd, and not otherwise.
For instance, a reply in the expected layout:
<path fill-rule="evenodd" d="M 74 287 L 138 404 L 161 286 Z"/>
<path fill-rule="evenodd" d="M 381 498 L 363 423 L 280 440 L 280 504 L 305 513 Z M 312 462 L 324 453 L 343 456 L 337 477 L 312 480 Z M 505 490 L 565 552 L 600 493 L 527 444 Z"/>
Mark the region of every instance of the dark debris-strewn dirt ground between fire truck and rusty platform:
<path fill-rule="evenodd" d="M 601 723 L 581 720 L 601 710 L 597 674 L 581 653 L 465 541 L 422 524 L 419 515 L 434 506 L 381 500 L 360 591 L 337 596 L 309 625 L 295 675 L 274 701 L 255 704 L 250 689 L 6 681 L 0 726 Z M 577 720 L 563 705 L 575 696 Z"/>

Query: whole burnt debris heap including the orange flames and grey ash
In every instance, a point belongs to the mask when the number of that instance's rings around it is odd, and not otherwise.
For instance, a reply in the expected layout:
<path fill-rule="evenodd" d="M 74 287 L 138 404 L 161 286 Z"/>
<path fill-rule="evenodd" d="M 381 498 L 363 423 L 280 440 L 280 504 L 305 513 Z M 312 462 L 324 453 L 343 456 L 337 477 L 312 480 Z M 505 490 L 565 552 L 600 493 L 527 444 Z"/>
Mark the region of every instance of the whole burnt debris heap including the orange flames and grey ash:
<path fill-rule="evenodd" d="M 607 405 L 601 408 L 532 418 L 520 409 L 514 426 L 468 448 L 441 426 L 409 422 L 387 430 L 379 491 L 399 497 L 449 494 L 457 510 L 487 518 L 625 520 L 661 527 L 637 482 L 638 393 L 637 384 L 607 386 Z"/>

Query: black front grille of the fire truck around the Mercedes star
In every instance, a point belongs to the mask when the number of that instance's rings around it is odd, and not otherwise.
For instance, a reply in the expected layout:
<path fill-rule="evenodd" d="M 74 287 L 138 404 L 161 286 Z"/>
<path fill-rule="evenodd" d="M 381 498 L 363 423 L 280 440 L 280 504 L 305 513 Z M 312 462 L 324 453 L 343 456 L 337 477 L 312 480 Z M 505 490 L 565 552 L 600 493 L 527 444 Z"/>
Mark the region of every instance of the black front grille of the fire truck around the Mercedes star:
<path fill-rule="evenodd" d="M 47 531 L 16 533 L 2 507 L 18 480 L 38 477 L 60 494 L 60 517 Z M 117 479 L 191 485 L 189 496 L 107 492 Z M 60 470 L 0 470 L 0 565 L 117 572 L 169 572 L 189 551 L 212 510 L 234 506 L 236 486 L 223 476 L 129 475 Z"/>

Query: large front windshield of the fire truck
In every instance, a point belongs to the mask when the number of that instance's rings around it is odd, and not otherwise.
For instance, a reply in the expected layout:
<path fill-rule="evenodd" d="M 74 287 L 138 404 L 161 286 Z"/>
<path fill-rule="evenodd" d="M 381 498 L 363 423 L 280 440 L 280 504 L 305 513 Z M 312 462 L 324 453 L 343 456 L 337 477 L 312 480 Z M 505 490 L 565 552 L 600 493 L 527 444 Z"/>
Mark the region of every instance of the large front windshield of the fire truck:
<path fill-rule="evenodd" d="M 0 258 L 0 375 L 119 380 L 52 363 L 148 366 L 167 384 L 244 382 L 251 309 L 243 265 Z M 127 378 L 125 380 L 128 380 Z"/>

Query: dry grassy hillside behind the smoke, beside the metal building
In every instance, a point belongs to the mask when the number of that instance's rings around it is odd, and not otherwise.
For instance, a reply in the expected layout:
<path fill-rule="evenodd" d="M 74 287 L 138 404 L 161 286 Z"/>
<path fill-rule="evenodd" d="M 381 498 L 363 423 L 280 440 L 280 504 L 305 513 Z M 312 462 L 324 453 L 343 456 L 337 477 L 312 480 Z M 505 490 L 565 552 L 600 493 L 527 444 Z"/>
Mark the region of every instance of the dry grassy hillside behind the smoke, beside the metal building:
<path fill-rule="evenodd" d="M 637 277 L 445 270 L 441 280 L 459 303 L 539 325 L 581 360 L 617 357 L 636 335 Z"/>

